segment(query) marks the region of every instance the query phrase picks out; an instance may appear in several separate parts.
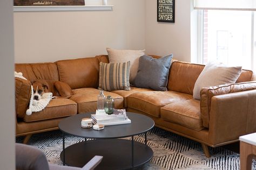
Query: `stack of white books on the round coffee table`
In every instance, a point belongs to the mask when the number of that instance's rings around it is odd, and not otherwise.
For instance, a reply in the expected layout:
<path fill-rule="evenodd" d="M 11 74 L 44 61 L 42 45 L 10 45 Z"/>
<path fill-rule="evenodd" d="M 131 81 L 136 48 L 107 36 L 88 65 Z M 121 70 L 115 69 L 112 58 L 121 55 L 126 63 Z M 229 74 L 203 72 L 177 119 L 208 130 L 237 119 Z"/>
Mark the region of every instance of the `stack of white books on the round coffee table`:
<path fill-rule="evenodd" d="M 113 114 L 107 115 L 105 112 L 97 112 L 91 115 L 93 124 L 119 125 L 131 123 L 131 120 L 126 116 L 125 109 L 114 109 Z"/>

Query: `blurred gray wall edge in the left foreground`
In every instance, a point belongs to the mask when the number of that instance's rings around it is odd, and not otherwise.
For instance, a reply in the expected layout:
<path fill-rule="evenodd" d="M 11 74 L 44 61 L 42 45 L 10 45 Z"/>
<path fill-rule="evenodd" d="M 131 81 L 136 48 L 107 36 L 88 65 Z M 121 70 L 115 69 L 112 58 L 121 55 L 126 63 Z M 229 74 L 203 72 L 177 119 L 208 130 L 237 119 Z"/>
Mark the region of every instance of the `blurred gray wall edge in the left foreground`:
<path fill-rule="evenodd" d="M 12 1 L 0 1 L 0 169 L 15 169 L 14 29 Z"/>

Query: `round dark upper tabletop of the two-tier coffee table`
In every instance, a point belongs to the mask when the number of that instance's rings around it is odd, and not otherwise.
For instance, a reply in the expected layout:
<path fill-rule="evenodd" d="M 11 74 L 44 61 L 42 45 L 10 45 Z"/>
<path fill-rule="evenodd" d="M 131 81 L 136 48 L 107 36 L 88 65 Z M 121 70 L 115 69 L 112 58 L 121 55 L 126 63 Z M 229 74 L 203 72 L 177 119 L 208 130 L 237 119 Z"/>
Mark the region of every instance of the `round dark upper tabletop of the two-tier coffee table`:
<path fill-rule="evenodd" d="M 91 118 L 95 112 L 86 114 L 78 114 L 70 116 L 59 123 L 60 131 L 73 136 L 93 139 L 114 139 L 135 136 L 145 133 L 153 128 L 154 121 L 145 115 L 126 112 L 126 115 L 131 119 L 130 124 L 105 126 L 103 130 L 93 130 L 92 128 L 82 128 L 81 121 L 83 118 Z"/>

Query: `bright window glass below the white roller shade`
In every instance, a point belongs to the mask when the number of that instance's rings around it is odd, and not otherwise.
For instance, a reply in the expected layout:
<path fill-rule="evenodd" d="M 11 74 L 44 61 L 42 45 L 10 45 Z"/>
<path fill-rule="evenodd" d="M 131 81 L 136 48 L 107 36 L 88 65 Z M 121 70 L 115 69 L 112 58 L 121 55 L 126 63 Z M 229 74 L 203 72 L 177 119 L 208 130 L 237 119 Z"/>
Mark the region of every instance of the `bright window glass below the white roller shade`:
<path fill-rule="evenodd" d="M 203 10 L 203 63 L 219 61 L 255 69 L 254 12 Z"/>

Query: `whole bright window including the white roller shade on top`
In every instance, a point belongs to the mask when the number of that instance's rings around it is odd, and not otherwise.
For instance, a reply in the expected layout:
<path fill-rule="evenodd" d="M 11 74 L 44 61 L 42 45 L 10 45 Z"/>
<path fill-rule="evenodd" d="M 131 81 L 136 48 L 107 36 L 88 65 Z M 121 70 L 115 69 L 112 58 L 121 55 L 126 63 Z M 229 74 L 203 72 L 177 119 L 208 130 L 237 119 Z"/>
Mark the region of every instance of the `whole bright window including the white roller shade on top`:
<path fill-rule="evenodd" d="M 194 0 L 199 10 L 199 59 L 256 70 L 254 0 Z"/>

